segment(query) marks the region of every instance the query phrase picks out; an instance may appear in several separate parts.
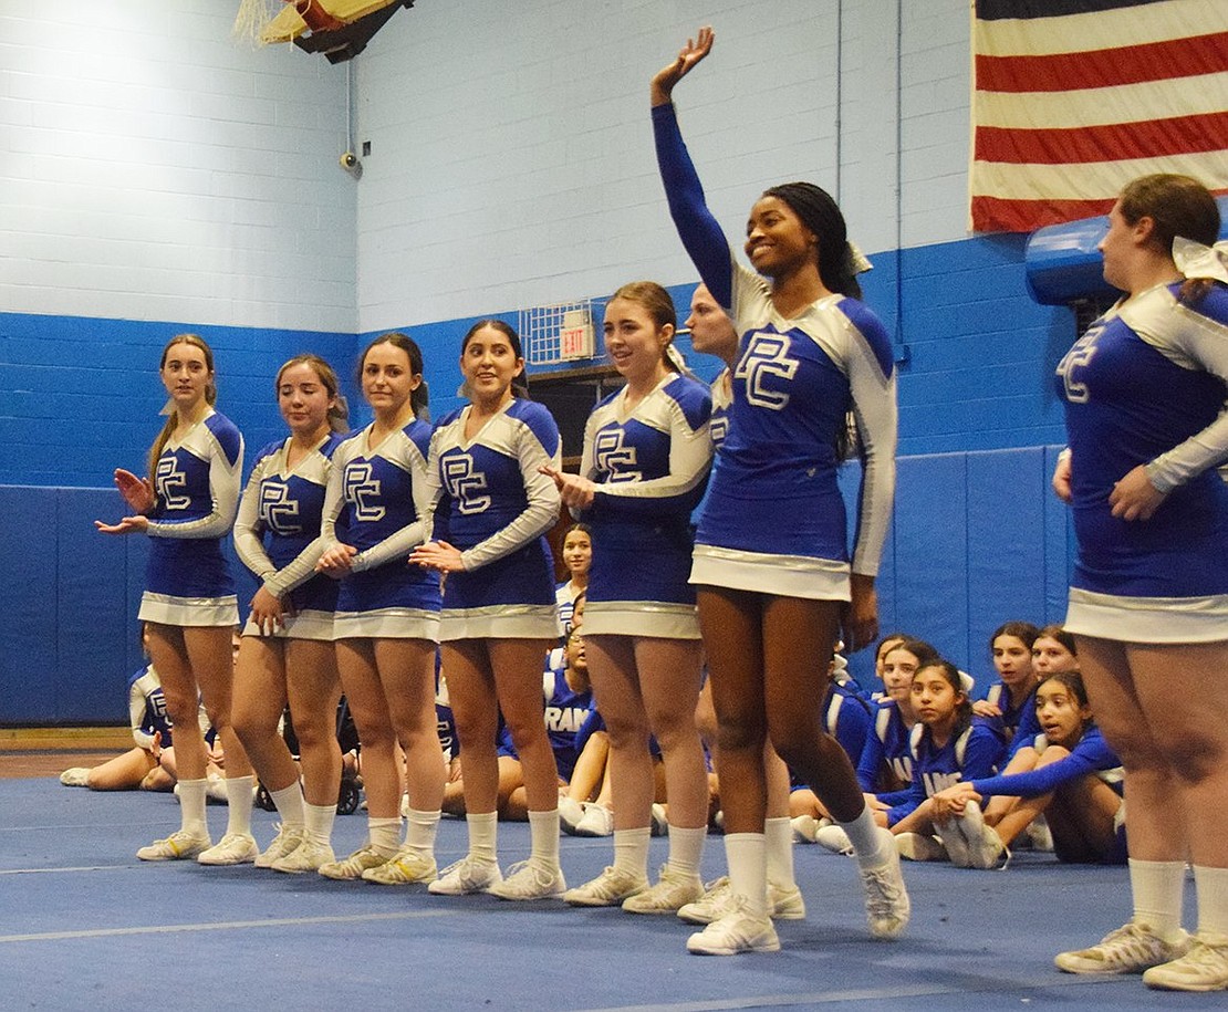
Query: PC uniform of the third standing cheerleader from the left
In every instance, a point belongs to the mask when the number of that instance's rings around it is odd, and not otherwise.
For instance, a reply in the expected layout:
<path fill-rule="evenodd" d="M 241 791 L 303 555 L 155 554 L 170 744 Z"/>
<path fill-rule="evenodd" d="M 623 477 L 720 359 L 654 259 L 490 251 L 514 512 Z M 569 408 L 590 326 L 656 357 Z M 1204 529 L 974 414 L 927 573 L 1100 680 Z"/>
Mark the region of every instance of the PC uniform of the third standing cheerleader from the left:
<path fill-rule="evenodd" d="M 333 623 L 338 640 L 438 639 L 440 578 L 406 559 L 426 538 L 430 489 L 426 452 L 431 426 L 414 419 L 370 446 L 373 425 L 333 452 L 321 537 L 343 538 L 359 554 L 341 580 Z"/>

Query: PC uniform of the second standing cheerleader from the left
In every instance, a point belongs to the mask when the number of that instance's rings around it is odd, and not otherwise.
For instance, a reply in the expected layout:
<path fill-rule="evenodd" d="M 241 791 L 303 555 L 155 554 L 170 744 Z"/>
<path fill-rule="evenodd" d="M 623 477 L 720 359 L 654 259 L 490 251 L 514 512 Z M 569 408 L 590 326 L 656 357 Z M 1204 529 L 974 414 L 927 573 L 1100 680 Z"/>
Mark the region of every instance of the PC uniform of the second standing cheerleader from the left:
<path fill-rule="evenodd" d="M 257 457 L 235 521 L 238 558 L 265 591 L 287 599 L 292 614 L 273 635 L 297 640 L 332 640 L 336 610 L 335 580 L 316 572 L 324 551 L 319 537 L 324 490 L 332 457 L 341 436 L 330 432 L 293 468 L 287 465 L 292 440 L 269 443 Z M 263 635 L 248 619 L 244 636 Z"/>

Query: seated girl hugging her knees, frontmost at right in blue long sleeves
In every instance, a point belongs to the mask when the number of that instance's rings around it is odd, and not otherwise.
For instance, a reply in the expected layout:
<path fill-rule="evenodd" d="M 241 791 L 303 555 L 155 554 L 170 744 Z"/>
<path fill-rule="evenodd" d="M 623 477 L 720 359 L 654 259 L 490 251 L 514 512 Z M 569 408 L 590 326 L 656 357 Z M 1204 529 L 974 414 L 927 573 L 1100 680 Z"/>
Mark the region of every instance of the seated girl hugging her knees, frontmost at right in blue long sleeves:
<path fill-rule="evenodd" d="M 1092 721 L 1082 675 L 1061 672 L 1041 682 L 1036 716 L 1044 733 L 1016 753 L 1016 771 L 969 777 L 935 796 L 933 818 L 952 861 L 992 867 L 1044 814 L 1059 861 L 1125 863 L 1121 760 Z M 991 798 L 984 815 L 982 798 Z"/>

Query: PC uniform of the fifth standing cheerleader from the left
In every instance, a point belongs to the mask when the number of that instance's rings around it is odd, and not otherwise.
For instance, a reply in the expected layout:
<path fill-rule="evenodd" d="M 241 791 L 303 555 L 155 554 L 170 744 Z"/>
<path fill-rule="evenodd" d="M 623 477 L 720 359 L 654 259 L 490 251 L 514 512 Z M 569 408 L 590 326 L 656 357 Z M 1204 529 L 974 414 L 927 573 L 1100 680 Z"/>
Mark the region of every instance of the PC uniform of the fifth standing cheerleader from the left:
<path fill-rule="evenodd" d="M 712 399 L 670 372 L 630 411 L 625 402 L 625 389 L 610 394 L 585 427 L 580 473 L 597 483 L 585 635 L 698 640 L 690 515 L 711 465 Z"/>

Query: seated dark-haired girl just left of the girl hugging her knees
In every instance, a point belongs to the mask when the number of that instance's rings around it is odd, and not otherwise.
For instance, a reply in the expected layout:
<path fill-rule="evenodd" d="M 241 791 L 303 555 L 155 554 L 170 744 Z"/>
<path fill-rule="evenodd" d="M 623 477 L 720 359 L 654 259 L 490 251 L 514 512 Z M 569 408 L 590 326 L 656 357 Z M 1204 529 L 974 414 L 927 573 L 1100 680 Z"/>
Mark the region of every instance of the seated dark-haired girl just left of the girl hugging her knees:
<path fill-rule="evenodd" d="M 959 782 L 989 776 L 1002 759 L 1002 738 L 995 728 L 973 717 L 959 669 L 949 661 L 925 661 L 912 675 L 912 711 L 917 723 L 909 734 L 912 784 L 904 791 L 879 795 L 874 812 L 880 825 L 895 834 L 900 856 L 941 860 L 942 846 L 933 840 L 933 802 L 939 791 Z M 828 827 L 819 843 L 833 850 L 840 843 Z"/>

